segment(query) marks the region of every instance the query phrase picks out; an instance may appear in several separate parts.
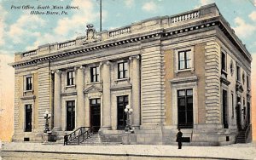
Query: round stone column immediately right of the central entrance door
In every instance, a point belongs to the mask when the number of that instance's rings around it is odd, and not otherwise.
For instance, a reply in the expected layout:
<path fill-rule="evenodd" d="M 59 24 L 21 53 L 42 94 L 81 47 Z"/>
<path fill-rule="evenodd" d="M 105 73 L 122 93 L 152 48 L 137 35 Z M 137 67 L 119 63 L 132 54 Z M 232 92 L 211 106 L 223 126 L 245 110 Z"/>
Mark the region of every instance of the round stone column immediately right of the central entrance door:
<path fill-rule="evenodd" d="M 111 101 L 110 101 L 110 62 L 106 61 L 102 66 L 103 81 L 103 105 L 102 105 L 102 128 L 111 128 Z"/>

